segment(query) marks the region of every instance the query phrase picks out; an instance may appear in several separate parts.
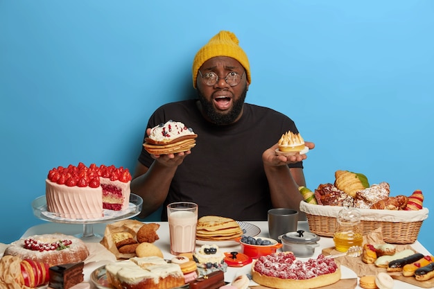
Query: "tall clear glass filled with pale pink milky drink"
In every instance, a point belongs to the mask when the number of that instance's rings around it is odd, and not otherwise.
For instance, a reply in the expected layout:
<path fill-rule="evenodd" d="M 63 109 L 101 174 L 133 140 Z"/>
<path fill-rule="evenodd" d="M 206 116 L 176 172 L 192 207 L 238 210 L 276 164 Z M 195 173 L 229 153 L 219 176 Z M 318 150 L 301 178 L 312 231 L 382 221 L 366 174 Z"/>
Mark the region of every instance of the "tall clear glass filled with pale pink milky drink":
<path fill-rule="evenodd" d="M 171 254 L 193 253 L 196 248 L 198 204 L 193 202 L 168 204 L 167 218 L 171 234 Z"/>

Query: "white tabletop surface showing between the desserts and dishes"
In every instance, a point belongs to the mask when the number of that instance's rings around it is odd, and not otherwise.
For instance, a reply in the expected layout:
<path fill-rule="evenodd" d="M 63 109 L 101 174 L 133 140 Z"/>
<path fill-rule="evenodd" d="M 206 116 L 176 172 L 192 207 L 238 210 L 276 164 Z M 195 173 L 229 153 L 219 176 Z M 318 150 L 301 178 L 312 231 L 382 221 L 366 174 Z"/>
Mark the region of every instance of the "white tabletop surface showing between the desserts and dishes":
<path fill-rule="evenodd" d="M 246 221 L 249 222 L 249 221 Z M 159 240 L 155 242 L 155 245 L 159 247 L 163 254 L 165 259 L 171 259 L 173 255 L 170 253 L 170 238 L 169 238 L 169 230 L 168 230 L 168 223 L 167 222 L 156 222 L 160 225 L 157 234 L 159 235 Z M 261 233 L 259 236 L 261 237 L 268 237 L 268 223 L 266 221 L 251 221 L 250 222 L 253 225 L 256 225 L 261 229 Z M 105 231 L 105 225 L 104 223 L 101 224 L 95 224 L 94 225 L 94 234 L 99 234 L 103 236 Z M 309 225 L 306 221 L 302 221 L 298 223 L 297 229 L 303 229 L 304 231 L 309 231 Z M 23 235 L 23 237 L 33 236 L 37 234 L 52 234 L 52 233 L 63 233 L 68 235 L 79 235 L 83 233 L 83 225 L 75 225 L 75 224 L 60 224 L 55 222 L 49 222 L 44 223 L 41 225 L 36 225 L 34 227 L 29 228 Z M 85 240 L 86 241 L 86 240 Z M 95 239 L 92 239 L 92 241 L 95 241 Z M 321 237 L 318 241 L 320 244 L 320 247 L 315 248 L 315 253 L 313 254 L 313 257 L 318 256 L 322 252 L 322 249 L 327 247 L 333 247 L 333 238 L 327 238 L 327 237 Z M 411 245 L 413 249 L 415 249 L 417 252 L 420 252 L 421 254 L 428 255 L 430 252 L 421 244 L 419 241 L 416 241 Z M 239 245 L 235 247 L 222 247 L 224 252 L 232 252 L 240 250 Z M 280 249 L 279 249 L 280 250 Z M 306 261 L 307 258 L 300 258 L 302 261 Z M 345 269 L 345 268 L 344 268 Z M 250 273 L 251 266 L 245 265 L 243 268 L 232 268 L 228 267 L 227 272 L 225 272 L 225 281 L 232 281 L 234 277 L 236 277 L 239 274 L 247 274 Z M 85 271 L 85 281 L 89 281 L 89 272 Z M 352 272 L 351 270 L 342 270 L 342 279 L 348 279 L 348 278 L 355 278 L 356 274 Z M 394 281 L 394 289 L 416 289 L 420 287 L 410 285 L 408 283 L 404 283 L 399 280 Z M 254 287 L 252 287 L 254 288 Z M 361 288 L 360 286 L 357 286 L 356 288 Z"/>

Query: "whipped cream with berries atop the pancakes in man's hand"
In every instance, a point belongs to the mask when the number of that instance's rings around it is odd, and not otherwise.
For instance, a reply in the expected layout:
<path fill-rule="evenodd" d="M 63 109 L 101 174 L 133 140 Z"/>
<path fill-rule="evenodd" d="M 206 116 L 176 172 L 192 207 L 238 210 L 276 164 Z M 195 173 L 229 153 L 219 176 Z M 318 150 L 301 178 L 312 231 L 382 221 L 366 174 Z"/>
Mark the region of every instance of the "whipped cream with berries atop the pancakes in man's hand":
<path fill-rule="evenodd" d="M 179 137 L 194 134 L 193 129 L 187 128 L 184 123 L 171 120 L 152 128 L 148 137 L 153 139 L 153 141 L 169 142 Z"/>

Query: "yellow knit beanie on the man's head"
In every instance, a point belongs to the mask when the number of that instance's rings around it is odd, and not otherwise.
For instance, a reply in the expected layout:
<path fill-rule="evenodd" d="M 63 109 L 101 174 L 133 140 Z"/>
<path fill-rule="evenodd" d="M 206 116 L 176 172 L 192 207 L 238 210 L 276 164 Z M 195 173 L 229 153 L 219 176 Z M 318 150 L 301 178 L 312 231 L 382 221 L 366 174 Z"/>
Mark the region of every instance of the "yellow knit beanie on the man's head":
<path fill-rule="evenodd" d="M 193 87 L 196 88 L 196 78 L 198 78 L 198 70 L 205 61 L 216 56 L 227 56 L 234 58 L 243 65 L 247 80 L 250 83 L 250 64 L 247 55 L 238 45 L 238 38 L 235 34 L 229 31 L 220 31 L 217 35 L 211 38 L 205 46 L 203 46 L 193 60 Z"/>

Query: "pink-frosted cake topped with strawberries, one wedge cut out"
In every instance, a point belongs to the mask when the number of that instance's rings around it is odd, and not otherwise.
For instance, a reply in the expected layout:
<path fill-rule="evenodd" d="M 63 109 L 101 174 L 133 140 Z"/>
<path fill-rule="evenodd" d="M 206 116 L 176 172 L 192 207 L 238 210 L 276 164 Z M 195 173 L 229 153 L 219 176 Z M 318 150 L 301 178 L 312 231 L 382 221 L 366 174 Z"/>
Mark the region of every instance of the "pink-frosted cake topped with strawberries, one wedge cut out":
<path fill-rule="evenodd" d="M 130 204 L 130 183 L 128 168 L 58 166 L 45 180 L 47 211 L 61 218 L 92 219 L 103 217 L 103 209 L 125 210 Z"/>

